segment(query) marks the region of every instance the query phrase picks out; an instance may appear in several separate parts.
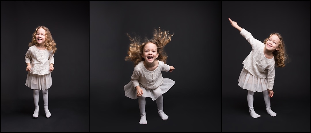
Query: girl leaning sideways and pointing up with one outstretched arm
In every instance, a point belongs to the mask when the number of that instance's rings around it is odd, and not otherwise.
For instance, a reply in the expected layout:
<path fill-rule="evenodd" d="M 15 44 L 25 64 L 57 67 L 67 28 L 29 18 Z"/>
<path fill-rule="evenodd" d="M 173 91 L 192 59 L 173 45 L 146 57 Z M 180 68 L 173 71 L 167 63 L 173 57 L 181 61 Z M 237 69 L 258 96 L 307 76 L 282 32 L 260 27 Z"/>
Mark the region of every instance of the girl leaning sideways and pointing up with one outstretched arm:
<path fill-rule="evenodd" d="M 241 28 L 235 21 L 229 18 L 231 25 L 238 29 L 240 34 L 252 46 L 252 51 L 243 61 L 243 69 L 240 73 L 239 86 L 248 90 L 247 102 L 250 116 L 258 118 L 253 108 L 254 92 L 262 92 L 266 104 L 266 111 L 271 116 L 276 113 L 271 110 L 270 98 L 273 96 L 275 65 L 285 67 L 287 55 L 285 53 L 284 40 L 279 33 L 271 33 L 263 43 L 253 38 L 253 35 Z"/>

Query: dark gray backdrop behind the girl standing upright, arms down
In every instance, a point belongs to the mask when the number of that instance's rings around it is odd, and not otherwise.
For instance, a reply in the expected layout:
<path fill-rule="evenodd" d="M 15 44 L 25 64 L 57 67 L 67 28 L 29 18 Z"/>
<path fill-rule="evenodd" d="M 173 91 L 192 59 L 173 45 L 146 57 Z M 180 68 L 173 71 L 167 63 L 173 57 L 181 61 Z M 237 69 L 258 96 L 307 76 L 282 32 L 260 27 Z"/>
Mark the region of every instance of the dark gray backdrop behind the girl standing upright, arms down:
<path fill-rule="evenodd" d="M 50 118 L 42 91 L 33 118 L 33 91 L 25 86 L 25 54 L 39 25 L 50 29 L 58 50 Z M 1 1 L 1 132 L 89 131 L 89 2 Z"/>

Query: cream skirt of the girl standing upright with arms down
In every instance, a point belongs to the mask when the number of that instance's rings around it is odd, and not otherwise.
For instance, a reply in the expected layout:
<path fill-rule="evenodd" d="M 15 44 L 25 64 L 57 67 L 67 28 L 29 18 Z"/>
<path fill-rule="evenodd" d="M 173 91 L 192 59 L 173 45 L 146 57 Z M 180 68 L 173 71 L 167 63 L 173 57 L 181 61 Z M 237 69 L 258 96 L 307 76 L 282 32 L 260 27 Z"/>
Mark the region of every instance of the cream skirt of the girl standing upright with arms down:
<path fill-rule="evenodd" d="M 52 86 L 51 73 L 45 75 L 37 75 L 28 72 L 25 85 L 32 90 L 49 89 Z"/>

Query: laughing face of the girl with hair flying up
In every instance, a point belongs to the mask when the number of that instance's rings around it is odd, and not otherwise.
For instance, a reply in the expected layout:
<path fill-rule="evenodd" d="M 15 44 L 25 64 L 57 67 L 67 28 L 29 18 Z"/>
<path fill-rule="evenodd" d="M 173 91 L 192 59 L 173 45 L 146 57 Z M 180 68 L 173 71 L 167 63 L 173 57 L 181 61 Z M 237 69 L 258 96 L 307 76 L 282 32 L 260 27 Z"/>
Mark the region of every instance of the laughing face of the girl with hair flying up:
<path fill-rule="evenodd" d="M 148 43 L 144 46 L 142 57 L 145 59 L 146 63 L 153 63 L 158 56 L 159 53 L 156 44 Z"/>

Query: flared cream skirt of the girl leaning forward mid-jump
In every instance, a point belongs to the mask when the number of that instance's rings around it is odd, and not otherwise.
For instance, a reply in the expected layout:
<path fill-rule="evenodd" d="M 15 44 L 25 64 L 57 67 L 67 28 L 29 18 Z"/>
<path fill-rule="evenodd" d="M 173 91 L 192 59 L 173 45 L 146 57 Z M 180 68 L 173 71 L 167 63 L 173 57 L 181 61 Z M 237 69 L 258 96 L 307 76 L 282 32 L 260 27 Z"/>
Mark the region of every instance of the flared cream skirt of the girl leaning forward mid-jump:
<path fill-rule="evenodd" d="M 144 97 L 150 97 L 152 100 L 156 100 L 160 95 L 164 94 L 165 92 L 169 91 L 169 89 L 175 84 L 175 81 L 169 79 L 169 78 L 164 78 L 163 79 L 163 84 L 157 87 L 156 89 L 147 89 L 142 86 L 142 96 Z M 132 99 L 137 99 L 137 91 L 133 86 L 132 81 L 128 82 L 127 85 L 124 86 L 124 91 L 125 91 L 125 96 L 132 98 Z"/>

